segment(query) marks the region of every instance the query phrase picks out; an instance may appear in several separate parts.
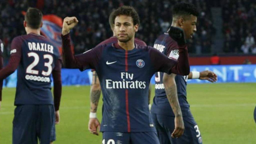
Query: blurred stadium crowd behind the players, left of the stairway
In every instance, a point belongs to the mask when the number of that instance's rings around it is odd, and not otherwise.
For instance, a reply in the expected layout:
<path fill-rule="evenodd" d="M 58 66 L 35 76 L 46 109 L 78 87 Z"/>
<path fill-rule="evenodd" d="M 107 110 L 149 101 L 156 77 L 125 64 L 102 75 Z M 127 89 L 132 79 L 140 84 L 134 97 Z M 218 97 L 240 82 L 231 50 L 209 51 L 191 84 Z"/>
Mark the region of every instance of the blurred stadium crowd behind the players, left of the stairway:
<path fill-rule="evenodd" d="M 38 1 L 40 2 L 40 0 Z M 10 0 L 0 3 L 0 38 L 4 41 L 7 53 L 12 39 L 17 35 L 25 34 L 22 25 L 24 16 L 21 11 L 26 11 L 27 7 L 37 7 L 42 10 L 44 15 L 55 14 L 61 18 L 78 17 L 80 22 L 74 29 L 72 38 L 75 53 L 79 54 L 112 36 L 108 16 L 112 9 L 122 5 L 131 5 L 136 8 L 141 22 L 136 37 L 153 46 L 157 36 L 168 30 L 171 24 L 172 7 L 178 2 L 177 0 L 44 0 L 43 3 L 38 3 L 38 1 Z M 197 33 L 194 39 L 189 41 L 189 50 L 191 53 L 198 54 L 210 52 L 209 47 L 214 28 L 209 6 L 204 0 L 186 0 L 185 2 L 194 3 L 200 12 Z"/>

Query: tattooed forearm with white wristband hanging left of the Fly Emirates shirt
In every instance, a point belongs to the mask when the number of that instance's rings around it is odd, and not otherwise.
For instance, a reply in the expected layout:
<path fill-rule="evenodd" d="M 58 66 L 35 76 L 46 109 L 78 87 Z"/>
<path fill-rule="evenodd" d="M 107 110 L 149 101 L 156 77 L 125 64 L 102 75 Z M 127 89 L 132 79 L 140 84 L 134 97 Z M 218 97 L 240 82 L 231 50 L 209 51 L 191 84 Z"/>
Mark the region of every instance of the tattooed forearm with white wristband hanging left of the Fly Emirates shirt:
<path fill-rule="evenodd" d="M 98 129 L 100 128 L 100 122 L 96 117 L 96 112 L 99 104 L 101 93 L 101 87 L 98 75 L 96 71 L 92 72 L 92 85 L 90 91 L 90 99 L 91 99 L 91 112 L 90 112 L 90 120 L 88 124 L 88 130 L 94 135 L 99 135 Z"/>

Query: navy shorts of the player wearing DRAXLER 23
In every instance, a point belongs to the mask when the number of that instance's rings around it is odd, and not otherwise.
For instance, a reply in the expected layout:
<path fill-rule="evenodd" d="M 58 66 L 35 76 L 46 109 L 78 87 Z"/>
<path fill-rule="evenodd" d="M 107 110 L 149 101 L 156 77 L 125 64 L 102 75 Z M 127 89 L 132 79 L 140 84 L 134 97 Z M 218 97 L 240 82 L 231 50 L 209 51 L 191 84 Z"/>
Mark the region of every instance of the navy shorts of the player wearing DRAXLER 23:
<path fill-rule="evenodd" d="M 13 119 L 13 144 L 49 144 L 56 139 L 53 105 L 19 105 Z"/>

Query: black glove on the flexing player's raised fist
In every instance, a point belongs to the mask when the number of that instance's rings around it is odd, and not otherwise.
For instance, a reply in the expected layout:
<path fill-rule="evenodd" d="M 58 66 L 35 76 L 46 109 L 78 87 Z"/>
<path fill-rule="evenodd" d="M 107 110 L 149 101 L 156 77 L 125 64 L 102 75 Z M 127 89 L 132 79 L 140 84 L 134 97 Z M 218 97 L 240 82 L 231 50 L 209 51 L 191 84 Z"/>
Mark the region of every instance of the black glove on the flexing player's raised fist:
<path fill-rule="evenodd" d="M 174 39 L 178 43 L 178 45 L 185 45 L 187 43 L 184 31 L 179 27 L 171 26 L 168 34 L 172 39 Z"/>

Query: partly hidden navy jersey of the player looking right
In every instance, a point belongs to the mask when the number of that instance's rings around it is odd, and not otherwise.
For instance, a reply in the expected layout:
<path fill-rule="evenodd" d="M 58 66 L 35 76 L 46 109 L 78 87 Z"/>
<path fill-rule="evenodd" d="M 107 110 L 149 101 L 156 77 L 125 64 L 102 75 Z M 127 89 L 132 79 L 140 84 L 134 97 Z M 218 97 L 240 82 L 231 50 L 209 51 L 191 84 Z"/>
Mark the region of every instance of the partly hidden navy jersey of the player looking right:
<path fill-rule="evenodd" d="M 175 40 L 169 37 L 168 33 L 164 33 L 156 39 L 154 43 L 154 48 L 156 48 L 166 56 L 172 57 L 174 59 L 179 58 L 178 44 Z M 163 84 L 163 75 L 164 73 L 162 72 L 155 73 L 155 82 L 156 82 L 155 97 L 153 100 L 151 112 L 156 114 L 165 114 L 165 115 L 174 116 L 174 113 L 172 111 L 172 108 L 169 104 L 169 101 L 165 93 L 164 84 Z M 189 109 L 189 104 L 186 98 L 187 79 L 188 79 L 188 76 L 176 75 L 175 77 L 175 82 L 177 85 L 178 100 L 179 100 L 179 104 L 182 109 L 183 115 L 188 114 L 188 109 Z"/>

